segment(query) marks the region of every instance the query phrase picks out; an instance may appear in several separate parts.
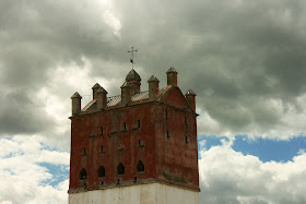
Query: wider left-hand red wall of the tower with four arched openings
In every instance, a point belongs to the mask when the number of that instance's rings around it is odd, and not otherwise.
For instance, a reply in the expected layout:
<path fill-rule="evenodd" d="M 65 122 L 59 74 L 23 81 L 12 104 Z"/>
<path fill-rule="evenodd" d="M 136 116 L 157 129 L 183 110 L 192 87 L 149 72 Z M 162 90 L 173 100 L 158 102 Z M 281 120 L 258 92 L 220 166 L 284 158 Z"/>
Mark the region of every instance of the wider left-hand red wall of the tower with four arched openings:
<path fill-rule="evenodd" d="M 125 175 L 120 177 L 123 181 L 133 180 L 134 177 L 154 178 L 153 108 L 152 104 L 143 104 L 72 118 L 70 189 L 79 188 L 82 168 L 87 171 L 86 184 L 98 185 L 99 166 L 105 167 L 105 184 L 116 183 L 119 163 L 125 165 Z M 139 129 L 138 120 L 141 121 Z M 123 122 L 127 122 L 127 131 L 123 130 Z M 101 127 L 104 129 L 103 135 Z M 144 146 L 139 147 L 139 140 Z M 101 153 L 102 145 L 104 153 Z M 83 148 L 87 154 L 82 156 Z M 137 173 L 139 160 L 145 165 L 144 173 Z"/>

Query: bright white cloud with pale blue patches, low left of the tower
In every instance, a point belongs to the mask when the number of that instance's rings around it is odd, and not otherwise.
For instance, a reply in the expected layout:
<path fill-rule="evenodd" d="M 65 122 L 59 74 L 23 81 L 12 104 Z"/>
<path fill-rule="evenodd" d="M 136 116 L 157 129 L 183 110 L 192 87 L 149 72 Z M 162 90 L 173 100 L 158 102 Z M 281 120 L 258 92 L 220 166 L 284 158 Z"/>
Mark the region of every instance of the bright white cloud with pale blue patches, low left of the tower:
<path fill-rule="evenodd" d="M 50 185 L 48 181 L 55 181 L 55 175 L 39 164 L 57 165 L 59 169 L 67 169 L 70 155 L 68 152 L 45 146 L 42 141 L 40 136 L 0 140 L 2 203 L 67 203 L 68 179 L 55 187 Z M 62 173 L 62 178 L 66 178 L 67 172 Z"/>

